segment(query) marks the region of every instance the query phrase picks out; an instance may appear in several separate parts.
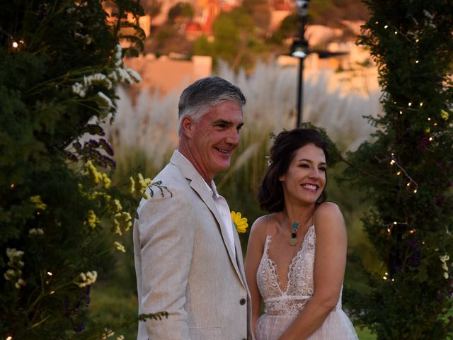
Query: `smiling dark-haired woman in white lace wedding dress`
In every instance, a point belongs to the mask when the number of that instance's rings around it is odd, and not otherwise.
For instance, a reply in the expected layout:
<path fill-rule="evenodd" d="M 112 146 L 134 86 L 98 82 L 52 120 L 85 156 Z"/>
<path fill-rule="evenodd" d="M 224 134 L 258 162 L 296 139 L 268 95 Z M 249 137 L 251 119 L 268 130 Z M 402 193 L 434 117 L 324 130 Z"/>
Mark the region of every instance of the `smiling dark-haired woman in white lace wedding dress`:
<path fill-rule="evenodd" d="M 245 263 L 257 340 L 358 339 L 341 310 L 347 235 L 340 209 L 325 202 L 326 148 L 319 132 L 297 128 L 271 149 L 258 190 L 270 215 L 253 223 Z"/>

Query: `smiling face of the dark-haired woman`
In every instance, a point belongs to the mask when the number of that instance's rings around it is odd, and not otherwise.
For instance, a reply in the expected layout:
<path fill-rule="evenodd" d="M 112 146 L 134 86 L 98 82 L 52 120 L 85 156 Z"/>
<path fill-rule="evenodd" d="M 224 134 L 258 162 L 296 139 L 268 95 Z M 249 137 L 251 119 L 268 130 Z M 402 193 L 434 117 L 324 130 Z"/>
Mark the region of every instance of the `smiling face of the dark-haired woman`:
<path fill-rule="evenodd" d="M 297 149 L 286 174 L 280 176 L 285 202 L 314 204 L 326 186 L 326 155 L 308 144 Z"/>

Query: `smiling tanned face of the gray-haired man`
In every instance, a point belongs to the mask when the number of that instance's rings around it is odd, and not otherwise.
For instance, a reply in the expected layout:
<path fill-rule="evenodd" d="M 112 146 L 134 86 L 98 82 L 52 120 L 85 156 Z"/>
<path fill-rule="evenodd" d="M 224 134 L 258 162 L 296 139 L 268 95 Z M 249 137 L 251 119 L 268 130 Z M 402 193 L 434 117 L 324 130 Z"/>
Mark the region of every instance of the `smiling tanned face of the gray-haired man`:
<path fill-rule="evenodd" d="M 230 166 L 231 154 L 239 145 L 239 130 L 243 125 L 242 108 L 225 101 L 193 122 L 190 153 L 195 169 L 205 181 Z"/>

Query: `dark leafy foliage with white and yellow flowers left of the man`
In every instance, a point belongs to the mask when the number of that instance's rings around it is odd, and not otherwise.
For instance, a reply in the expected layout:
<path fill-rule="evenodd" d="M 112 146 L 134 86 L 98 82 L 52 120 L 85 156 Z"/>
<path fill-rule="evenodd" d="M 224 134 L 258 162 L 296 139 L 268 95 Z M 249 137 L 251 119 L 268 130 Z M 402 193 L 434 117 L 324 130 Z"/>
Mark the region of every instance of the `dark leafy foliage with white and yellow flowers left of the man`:
<path fill-rule="evenodd" d="M 124 251 L 102 229 L 130 229 L 137 198 L 126 193 L 150 184 L 110 180 L 99 124 L 113 119 L 117 84 L 139 80 L 122 57 L 137 55 L 144 33 L 137 1 L 109 1 L 110 16 L 103 4 L 0 4 L 1 339 L 96 336 L 84 330 L 90 287 L 101 254 Z"/>

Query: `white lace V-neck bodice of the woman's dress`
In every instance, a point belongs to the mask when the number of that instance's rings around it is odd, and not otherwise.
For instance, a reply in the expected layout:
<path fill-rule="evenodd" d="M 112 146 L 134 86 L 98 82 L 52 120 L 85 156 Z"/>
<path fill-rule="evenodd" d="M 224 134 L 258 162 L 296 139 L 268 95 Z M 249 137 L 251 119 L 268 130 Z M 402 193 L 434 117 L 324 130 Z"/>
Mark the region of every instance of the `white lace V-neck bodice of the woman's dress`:
<path fill-rule="evenodd" d="M 263 257 L 261 258 L 256 280 L 258 289 L 264 300 L 266 314 L 297 315 L 304 309 L 314 292 L 314 254 L 316 234 L 314 225 L 307 230 L 301 249 L 292 259 L 287 273 L 287 286 L 280 288 L 277 266 L 269 258 L 269 244 L 271 237 L 268 235 L 264 244 Z"/>

